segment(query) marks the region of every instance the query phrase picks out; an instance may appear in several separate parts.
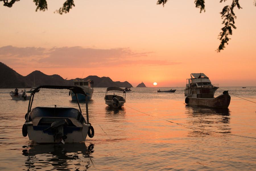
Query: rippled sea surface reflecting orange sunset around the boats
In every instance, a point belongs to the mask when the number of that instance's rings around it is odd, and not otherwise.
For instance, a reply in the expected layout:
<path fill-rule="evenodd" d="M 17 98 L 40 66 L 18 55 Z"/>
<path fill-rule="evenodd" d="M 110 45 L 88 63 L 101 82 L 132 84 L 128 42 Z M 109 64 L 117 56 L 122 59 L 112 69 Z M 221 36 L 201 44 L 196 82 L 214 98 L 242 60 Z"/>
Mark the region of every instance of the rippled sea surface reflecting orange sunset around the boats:
<path fill-rule="evenodd" d="M 0 170 L 256 170 L 256 139 L 247 138 L 256 138 L 255 103 L 231 95 L 228 110 L 195 108 L 184 104 L 184 88 L 158 89 L 132 88 L 127 106 L 113 110 L 104 101 L 106 88 L 94 88 L 88 106 L 94 137 L 65 145 L 23 137 L 28 101 L 0 89 Z M 256 102 L 256 87 L 222 89 Z M 41 89 L 32 107 L 52 104 L 78 108 L 68 90 L 56 89 Z"/>

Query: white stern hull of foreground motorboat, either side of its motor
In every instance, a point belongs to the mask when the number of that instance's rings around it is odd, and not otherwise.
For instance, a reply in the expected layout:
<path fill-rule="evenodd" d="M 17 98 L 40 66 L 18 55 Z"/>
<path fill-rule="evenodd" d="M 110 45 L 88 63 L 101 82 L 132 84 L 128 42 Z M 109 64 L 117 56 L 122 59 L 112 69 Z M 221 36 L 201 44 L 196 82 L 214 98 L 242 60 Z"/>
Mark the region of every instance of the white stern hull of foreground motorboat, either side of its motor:
<path fill-rule="evenodd" d="M 79 131 L 72 131 L 72 133 L 65 134 L 67 136 L 67 139 L 65 139 L 65 143 L 84 142 L 87 137 L 89 126 L 90 124 L 84 123 L 83 127 L 80 127 Z M 32 122 L 26 122 L 26 127 L 29 140 L 35 141 L 37 143 L 56 143 L 54 142 L 53 135 L 44 133 L 43 130 L 34 130 Z"/>

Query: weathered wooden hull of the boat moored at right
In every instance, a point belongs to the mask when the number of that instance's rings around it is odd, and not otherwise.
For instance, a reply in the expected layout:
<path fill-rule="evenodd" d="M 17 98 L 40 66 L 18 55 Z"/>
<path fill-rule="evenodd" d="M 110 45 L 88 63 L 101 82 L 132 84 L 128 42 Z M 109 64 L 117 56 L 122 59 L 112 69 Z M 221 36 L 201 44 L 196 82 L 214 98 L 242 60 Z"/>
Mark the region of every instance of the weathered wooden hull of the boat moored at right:
<path fill-rule="evenodd" d="M 185 103 L 189 106 L 199 106 L 207 108 L 228 108 L 231 97 L 228 93 L 221 94 L 216 98 L 193 98 L 186 97 Z"/>

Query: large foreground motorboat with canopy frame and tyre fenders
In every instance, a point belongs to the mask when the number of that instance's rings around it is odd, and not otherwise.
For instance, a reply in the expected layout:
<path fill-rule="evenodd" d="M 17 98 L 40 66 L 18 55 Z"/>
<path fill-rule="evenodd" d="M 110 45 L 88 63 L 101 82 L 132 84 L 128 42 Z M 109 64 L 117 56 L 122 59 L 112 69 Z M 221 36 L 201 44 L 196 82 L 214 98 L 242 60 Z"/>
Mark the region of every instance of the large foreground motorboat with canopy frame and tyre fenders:
<path fill-rule="evenodd" d="M 94 136 L 94 129 L 89 123 L 88 100 L 86 98 L 86 119 L 84 118 L 79 100 L 76 108 L 50 105 L 38 106 L 32 108 L 34 95 L 39 88 L 68 89 L 75 96 L 83 94 L 84 90 L 77 86 L 39 86 L 31 94 L 28 111 L 25 115 L 25 123 L 22 127 L 24 137 L 28 135 L 29 139 L 37 143 L 79 143 L 84 142 L 88 134 Z M 87 96 L 86 96 L 87 97 Z M 31 109 L 32 108 L 32 109 Z"/>

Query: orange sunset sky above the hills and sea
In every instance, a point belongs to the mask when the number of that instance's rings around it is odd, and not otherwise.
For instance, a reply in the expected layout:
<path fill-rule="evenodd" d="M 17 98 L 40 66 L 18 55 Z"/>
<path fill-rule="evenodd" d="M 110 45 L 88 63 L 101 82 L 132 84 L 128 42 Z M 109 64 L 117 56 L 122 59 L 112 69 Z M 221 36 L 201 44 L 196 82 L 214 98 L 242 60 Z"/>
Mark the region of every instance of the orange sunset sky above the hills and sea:
<path fill-rule="evenodd" d="M 225 3 L 194 1 L 74 1 L 68 14 L 54 14 L 64 1 L 35 12 L 30 1 L 0 3 L 0 61 L 21 75 L 40 70 L 72 79 L 108 76 L 137 86 L 185 86 L 190 73 L 205 73 L 220 86 L 256 86 L 256 7 L 240 1 L 236 30 L 216 53 Z M 3 17 L 4 16 L 4 17 Z"/>

